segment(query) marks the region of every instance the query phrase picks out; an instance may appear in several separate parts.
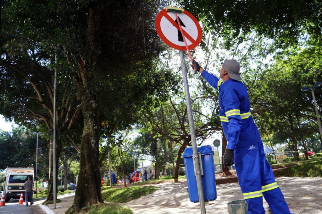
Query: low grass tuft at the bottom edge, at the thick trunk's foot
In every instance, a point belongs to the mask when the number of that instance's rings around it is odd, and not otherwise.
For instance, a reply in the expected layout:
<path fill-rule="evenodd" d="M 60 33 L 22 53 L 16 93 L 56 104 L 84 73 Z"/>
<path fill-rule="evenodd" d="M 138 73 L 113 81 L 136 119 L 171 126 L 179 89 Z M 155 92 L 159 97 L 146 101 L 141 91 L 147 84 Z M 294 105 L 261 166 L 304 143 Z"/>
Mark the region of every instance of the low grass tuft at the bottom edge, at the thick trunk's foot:
<path fill-rule="evenodd" d="M 83 213 L 83 212 L 81 212 Z M 85 211 L 86 214 L 132 214 L 132 210 L 117 204 L 95 204 Z"/>

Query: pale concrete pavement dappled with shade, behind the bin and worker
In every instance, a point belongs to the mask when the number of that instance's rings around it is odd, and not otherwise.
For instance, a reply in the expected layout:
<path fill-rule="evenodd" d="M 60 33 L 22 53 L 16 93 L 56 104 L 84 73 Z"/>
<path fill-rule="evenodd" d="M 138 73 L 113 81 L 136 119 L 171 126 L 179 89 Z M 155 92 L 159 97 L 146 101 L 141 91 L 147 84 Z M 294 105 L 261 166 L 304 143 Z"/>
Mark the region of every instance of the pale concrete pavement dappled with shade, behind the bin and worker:
<path fill-rule="evenodd" d="M 311 177 L 278 177 L 276 178 L 291 212 L 295 214 L 322 214 L 322 178 Z M 160 189 L 152 194 L 127 203 L 133 213 L 200 213 L 199 203 L 189 201 L 187 183 L 156 184 Z M 62 202 L 57 203 L 53 213 L 64 213 L 73 202 L 74 196 L 61 196 Z M 206 205 L 207 213 L 228 213 L 227 203 L 242 199 L 242 192 L 238 183 L 217 185 L 217 199 Z M 269 210 L 265 199 L 265 210 Z M 61 206 L 61 207 L 60 207 Z M 49 205 L 52 209 L 52 204 Z M 267 212 L 269 213 L 269 212 Z"/>

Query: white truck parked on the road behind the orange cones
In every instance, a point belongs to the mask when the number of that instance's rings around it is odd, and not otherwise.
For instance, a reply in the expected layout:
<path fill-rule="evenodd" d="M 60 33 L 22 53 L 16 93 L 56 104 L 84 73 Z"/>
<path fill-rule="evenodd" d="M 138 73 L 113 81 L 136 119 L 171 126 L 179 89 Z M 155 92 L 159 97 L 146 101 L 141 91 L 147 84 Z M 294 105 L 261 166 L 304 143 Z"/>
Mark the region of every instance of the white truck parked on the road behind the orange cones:
<path fill-rule="evenodd" d="M 24 183 L 28 180 L 28 176 L 33 177 L 33 168 L 7 168 L 4 177 L 5 202 L 10 199 L 20 198 L 24 193 Z M 24 194 L 23 194 L 24 196 Z"/>

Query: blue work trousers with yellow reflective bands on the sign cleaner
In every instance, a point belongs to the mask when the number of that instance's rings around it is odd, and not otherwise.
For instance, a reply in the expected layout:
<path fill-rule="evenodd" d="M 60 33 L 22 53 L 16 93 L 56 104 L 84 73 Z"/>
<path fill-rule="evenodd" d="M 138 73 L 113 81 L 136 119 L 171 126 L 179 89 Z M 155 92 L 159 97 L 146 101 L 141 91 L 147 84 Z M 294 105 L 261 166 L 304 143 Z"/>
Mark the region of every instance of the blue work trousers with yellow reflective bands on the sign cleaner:
<path fill-rule="evenodd" d="M 236 147 L 234 162 L 243 197 L 248 203 L 248 214 L 265 213 L 262 196 L 274 214 L 290 213 L 266 160 L 261 140 L 250 147 Z"/>

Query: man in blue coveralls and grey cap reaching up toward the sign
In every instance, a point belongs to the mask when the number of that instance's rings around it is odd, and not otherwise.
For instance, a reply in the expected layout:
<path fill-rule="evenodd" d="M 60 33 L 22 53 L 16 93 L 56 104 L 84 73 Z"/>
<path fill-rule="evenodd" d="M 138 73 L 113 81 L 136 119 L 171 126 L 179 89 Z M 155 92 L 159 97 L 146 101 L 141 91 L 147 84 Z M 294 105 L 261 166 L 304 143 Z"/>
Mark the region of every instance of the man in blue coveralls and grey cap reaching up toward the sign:
<path fill-rule="evenodd" d="M 220 70 L 221 79 L 205 71 L 195 60 L 192 64 L 219 91 L 219 116 L 228 142 L 223 163 L 225 167 L 235 163 L 242 195 L 248 203 L 248 213 L 265 213 L 264 196 L 274 214 L 289 214 L 289 207 L 274 179 L 260 133 L 251 117 L 247 88 L 239 81 L 242 79 L 239 63 L 226 59 Z"/>

